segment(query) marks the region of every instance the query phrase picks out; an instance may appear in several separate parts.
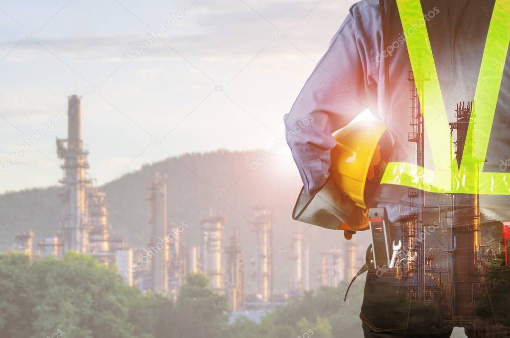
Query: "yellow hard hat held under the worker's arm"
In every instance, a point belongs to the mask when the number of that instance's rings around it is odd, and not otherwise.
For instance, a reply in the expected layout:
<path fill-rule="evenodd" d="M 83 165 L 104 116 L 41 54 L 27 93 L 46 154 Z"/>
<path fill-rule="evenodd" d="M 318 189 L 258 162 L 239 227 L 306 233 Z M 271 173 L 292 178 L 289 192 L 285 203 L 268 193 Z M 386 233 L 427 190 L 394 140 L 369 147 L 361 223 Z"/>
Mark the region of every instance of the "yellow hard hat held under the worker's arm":
<path fill-rule="evenodd" d="M 337 145 L 331 150 L 329 172 L 342 196 L 359 207 L 346 223 L 341 224 L 341 230 L 368 229 L 365 209 L 379 185 L 390 148 L 387 144 L 382 145 L 385 131 L 385 124 L 378 119 L 355 119 L 333 134 Z"/>

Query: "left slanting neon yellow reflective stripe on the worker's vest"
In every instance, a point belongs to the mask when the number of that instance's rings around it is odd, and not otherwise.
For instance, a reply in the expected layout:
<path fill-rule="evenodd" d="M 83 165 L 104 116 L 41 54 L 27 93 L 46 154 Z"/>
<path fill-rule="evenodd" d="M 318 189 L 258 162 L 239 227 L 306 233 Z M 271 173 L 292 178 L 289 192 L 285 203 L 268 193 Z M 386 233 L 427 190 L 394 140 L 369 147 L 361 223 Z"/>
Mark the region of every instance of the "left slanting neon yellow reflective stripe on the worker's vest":
<path fill-rule="evenodd" d="M 445 147 L 445 144 L 451 144 L 451 137 L 423 10 L 419 0 L 397 0 L 397 5 L 419 99 L 423 106 L 423 122 L 429 136 L 430 151 L 435 166 L 433 176 L 436 185 L 442 189 L 449 189 L 450 150 Z M 419 90 L 420 77 L 427 78 L 424 90 Z"/>

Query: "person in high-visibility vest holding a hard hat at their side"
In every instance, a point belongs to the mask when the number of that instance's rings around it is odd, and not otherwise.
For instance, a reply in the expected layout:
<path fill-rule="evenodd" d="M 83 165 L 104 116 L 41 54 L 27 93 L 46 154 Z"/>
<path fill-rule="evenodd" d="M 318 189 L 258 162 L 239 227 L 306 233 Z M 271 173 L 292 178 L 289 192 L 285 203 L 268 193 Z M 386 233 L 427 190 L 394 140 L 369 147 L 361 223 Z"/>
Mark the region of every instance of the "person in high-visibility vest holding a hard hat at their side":
<path fill-rule="evenodd" d="M 452 228 L 468 222 L 460 214 L 471 215 L 473 201 L 479 198 L 481 213 L 469 222 L 481 222 L 481 230 L 471 236 L 481 236 L 484 243 L 487 236 L 498 236 L 501 228 L 494 224 L 501 226 L 510 220 L 509 14 L 505 0 L 364 0 L 354 4 L 284 117 L 288 144 L 303 182 L 295 218 L 336 230 L 353 210 L 361 210 L 352 208 L 352 201 L 344 196 L 348 191 L 340 191 L 331 178 L 331 150 L 337 146 L 333 133 L 354 118 L 360 123 L 361 118 L 367 128 L 375 120 L 387 129 L 387 144 L 391 144 L 383 146 L 389 153 L 387 166 L 370 203 L 385 208 L 392 228 L 402 229 L 409 222 L 413 211 L 406 210 L 414 210 L 411 195 L 420 194 L 422 224 L 440 228 L 425 243 L 439 247 L 434 257 L 444 251 L 455 256 L 455 250 L 465 249 L 453 243 L 461 246 L 463 234 L 446 242 L 438 236 L 447 222 Z M 473 101 L 467 120 L 474 129 L 461 132 L 466 106 L 458 103 L 470 107 Z M 359 116 L 362 111 L 365 116 Z M 417 126 L 423 129 L 413 129 Z M 422 145 L 417 141 L 420 137 Z M 417 157 L 420 147 L 421 159 Z M 451 211 L 452 196 L 459 212 L 448 221 L 445 215 Z M 492 232 L 485 233 L 490 227 Z M 348 230 L 346 238 L 356 232 L 355 228 Z M 500 249 L 500 242 L 492 242 L 490 250 Z M 502 256 L 501 251 L 498 254 Z M 447 263 L 438 269 L 451 272 L 455 261 L 444 255 Z M 462 267 L 454 269 L 462 275 Z M 424 303 L 417 304 L 390 287 L 393 277 L 369 271 L 360 315 L 363 332 L 366 337 L 448 337 L 452 326 L 464 326 L 468 336 L 479 336 L 481 329 L 476 325 L 480 319 L 486 323 L 484 329 L 491 327 L 504 336 L 510 327 L 510 315 L 504 308 L 510 300 L 510 278 L 506 276 L 510 272 L 499 269 L 497 273 L 502 274 L 499 284 L 486 281 L 488 297 L 454 302 L 452 316 L 460 314 L 456 318 L 464 322 L 452 324 L 451 318 L 427 308 L 431 296 L 425 295 Z M 453 288 L 457 296 L 473 295 L 462 284 Z"/>

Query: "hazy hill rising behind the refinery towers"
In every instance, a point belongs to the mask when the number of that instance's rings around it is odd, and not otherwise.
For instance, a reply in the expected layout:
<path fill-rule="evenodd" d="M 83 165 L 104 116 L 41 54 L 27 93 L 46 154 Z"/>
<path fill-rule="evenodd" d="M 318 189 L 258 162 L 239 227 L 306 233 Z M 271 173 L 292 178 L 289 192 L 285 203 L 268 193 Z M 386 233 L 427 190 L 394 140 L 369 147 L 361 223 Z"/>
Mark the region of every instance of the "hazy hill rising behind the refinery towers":
<path fill-rule="evenodd" d="M 289 258 L 292 235 L 304 231 L 303 244 L 310 244 L 312 286 L 318 284 L 319 252 L 342 247 L 342 232 L 309 227 L 291 219 L 292 208 L 301 187 L 299 175 L 287 155 L 275 154 L 266 164 L 255 168 L 252 160 L 263 151 L 217 151 L 206 154 L 186 154 L 161 162 L 144 165 L 140 170 L 125 174 L 103 186 L 107 194 L 109 221 L 118 235 L 132 247 L 144 247 L 150 236 L 147 225 L 148 201 L 146 185 L 156 173 L 166 175 L 168 221 L 186 222 L 187 245 L 199 244 L 199 223 L 210 210 L 223 212 L 227 218 L 225 238 L 239 228 L 242 251 L 247 262 L 247 276 L 256 269 L 253 226 L 254 204 L 263 203 L 272 212 L 275 286 L 287 287 L 292 260 Z M 94 163 L 92 163 L 94 165 Z M 57 175 L 56 175 L 57 176 Z M 0 248 L 12 248 L 14 234 L 32 230 L 36 240 L 58 231 L 61 204 L 57 187 L 35 188 L 8 192 L 0 196 Z M 356 235 L 364 256 L 368 234 Z M 280 247 L 280 250 L 278 250 Z M 281 252 L 279 252 L 281 251 Z"/>

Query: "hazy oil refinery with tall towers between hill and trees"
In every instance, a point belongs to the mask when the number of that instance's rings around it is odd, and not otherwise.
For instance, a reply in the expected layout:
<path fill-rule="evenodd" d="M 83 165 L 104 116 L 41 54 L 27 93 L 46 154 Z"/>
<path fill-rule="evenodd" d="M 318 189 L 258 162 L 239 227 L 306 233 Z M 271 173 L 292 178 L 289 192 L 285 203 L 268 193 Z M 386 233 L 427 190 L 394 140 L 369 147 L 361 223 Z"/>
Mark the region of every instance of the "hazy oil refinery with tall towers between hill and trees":
<path fill-rule="evenodd" d="M 266 205 L 253 204 L 251 219 L 230 233 L 226 231 L 226 216 L 211 209 L 199 221 L 199 242 L 189 246 L 184 231 L 189 225 L 171 220 L 167 214 L 167 178 L 160 174 L 152 182 L 146 182 L 150 229 L 147 247 L 127 246 L 108 221 L 107 192 L 88 175 L 89 153 L 81 136 L 81 98 L 77 95 L 68 97 L 67 118 L 67 138 L 56 141 L 63 171 L 59 181 L 60 224 L 37 244 L 34 232 L 17 233 L 13 250 L 33 259 L 60 259 L 67 251 L 87 254 L 101 264 L 115 264 L 126 285 L 137 286 L 142 291 L 150 289 L 172 300 L 177 299 L 188 274 L 203 272 L 209 277 L 211 291 L 225 295 L 232 311 L 272 310 L 311 290 L 310 276 L 315 273 L 310 273 L 313 257 L 310 257 L 309 244 L 296 231 L 288 246 L 278 245 L 273 238 L 271 211 Z M 252 241 L 254 252 L 243 249 L 243 233 Z M 355 274 L 361 262 L 361 257 L 355 256 L 356 249 L 359 248 L 348 243 L 342 249 L 331 249 L 316 257 L 321 259 L 319 275 L 324 286 L 336 287 Z M 290 259 L 286 290 L 275 286 L 272 259 L 275 254 Z M 250 271 L 253 271 L 251 275 Z M 250 278 L 251 289 L 247 287 Z"/>

